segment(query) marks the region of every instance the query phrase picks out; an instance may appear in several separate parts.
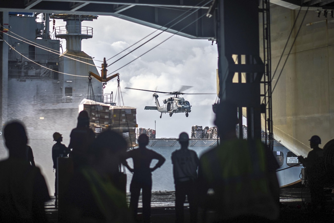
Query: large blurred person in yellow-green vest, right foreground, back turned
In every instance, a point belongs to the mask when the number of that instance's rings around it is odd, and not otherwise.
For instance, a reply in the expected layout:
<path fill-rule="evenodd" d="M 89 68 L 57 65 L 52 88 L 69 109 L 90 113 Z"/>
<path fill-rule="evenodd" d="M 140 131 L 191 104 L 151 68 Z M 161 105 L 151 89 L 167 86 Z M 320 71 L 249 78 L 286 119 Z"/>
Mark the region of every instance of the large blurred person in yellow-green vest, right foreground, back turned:
<path fill-rule="evenodd" d="M 277 220 L 279 165 L 261 140 L 237 139 L 237 122 L 237 107 L 221 101 L 215 120 L 220 145 L 200 157 L 200 203 L 215 211 L 216 222 Z"/>

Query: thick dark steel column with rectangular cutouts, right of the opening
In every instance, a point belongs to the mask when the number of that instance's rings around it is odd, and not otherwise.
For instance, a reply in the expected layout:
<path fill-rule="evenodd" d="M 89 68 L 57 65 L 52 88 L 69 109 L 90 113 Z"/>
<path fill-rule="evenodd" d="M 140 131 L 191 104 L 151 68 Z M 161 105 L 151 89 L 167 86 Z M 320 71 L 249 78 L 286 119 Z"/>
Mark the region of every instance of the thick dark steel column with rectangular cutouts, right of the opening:
<path fill-rule="evenodd" d="M 220 0 L 217 7 L 219 98 L 246 107 L 248 138 L 261 139 L 259 1 Z"/>

